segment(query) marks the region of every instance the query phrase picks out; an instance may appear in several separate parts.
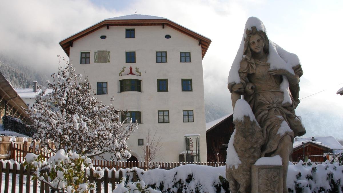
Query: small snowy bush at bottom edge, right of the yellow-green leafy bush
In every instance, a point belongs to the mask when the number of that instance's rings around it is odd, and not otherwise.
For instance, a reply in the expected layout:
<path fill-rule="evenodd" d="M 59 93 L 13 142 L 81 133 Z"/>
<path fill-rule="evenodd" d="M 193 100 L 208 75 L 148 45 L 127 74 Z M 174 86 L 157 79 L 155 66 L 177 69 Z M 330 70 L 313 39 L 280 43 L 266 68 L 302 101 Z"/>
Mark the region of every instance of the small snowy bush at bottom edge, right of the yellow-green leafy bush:
<path fill-rule="evenodd" d="M 147 187 L 144 183 L 144 181 L 137 181 L 137 182 L 129 182 L 125 183 L 126 178 L 123 177 L 120 180 L 120 183 L 118 184 L 117 188 L 113 190 L 112 193 L 123 193 L 123 192 L 131 192 L 131 193 L 161 193 L 161 191 L 154 190 L 151 187 Z"/>

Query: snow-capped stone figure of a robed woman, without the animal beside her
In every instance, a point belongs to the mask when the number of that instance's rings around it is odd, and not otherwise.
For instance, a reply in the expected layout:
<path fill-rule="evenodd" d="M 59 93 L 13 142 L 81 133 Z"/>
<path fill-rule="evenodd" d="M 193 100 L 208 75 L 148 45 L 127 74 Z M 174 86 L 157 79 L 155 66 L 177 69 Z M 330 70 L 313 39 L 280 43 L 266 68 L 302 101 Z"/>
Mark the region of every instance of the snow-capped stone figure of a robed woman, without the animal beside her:
<path fill-rule="evenodd" d="M 232 93 L 234 113 L 236 101 L 244 95 L 262 130 L 262 137 L 258 137 L 262 144 L 260 157 L 280 155 L 282 158 L 284 192 L 288 192 L 286 177 L 293 138 L 306 133 L 294 111 L 300 102 L 302 75 L 298 57 L 271 42 L 258 18 L 249 18 L 227 87 Z M 236 130 L 239 125 L 235 125 Z M 239 149 L 240 145 L 234 146 Z"/>

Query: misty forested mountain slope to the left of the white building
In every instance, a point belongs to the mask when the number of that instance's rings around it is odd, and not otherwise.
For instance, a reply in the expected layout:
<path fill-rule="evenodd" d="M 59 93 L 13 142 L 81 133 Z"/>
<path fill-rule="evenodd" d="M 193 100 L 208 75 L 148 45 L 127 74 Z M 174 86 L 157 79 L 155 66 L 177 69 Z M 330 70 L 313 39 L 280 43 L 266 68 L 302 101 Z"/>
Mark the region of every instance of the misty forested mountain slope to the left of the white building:
<path fill-rule="evenodd" d="M 37 81 L 38 85 L 46 86 L 46 80 L 51 80 L 51 77 L 37 71 L 34 67 L 26 66 L 23 61 L 4 55 L 0 55 L 0 72 L 13 88 L 32 88 L 33 81 Z"/>

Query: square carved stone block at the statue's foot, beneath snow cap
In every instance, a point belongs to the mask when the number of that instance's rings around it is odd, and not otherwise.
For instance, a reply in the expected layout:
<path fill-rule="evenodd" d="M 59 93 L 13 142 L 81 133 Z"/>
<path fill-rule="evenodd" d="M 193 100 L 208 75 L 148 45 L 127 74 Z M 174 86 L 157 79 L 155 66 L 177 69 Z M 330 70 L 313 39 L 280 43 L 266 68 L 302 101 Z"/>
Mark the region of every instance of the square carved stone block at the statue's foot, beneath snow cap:
<path fill-rule="evenodd" d="M 251 193 L 282 192 L 282 166 L 251 166 Z"/>

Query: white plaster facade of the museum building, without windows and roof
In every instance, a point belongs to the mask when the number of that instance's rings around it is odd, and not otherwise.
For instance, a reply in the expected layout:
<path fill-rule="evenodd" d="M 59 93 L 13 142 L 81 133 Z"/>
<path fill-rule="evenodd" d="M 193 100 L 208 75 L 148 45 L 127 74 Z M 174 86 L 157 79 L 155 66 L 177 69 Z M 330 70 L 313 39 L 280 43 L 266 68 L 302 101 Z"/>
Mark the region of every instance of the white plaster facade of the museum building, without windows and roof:
<path fill-rule="evenodd" d="M 135 38 L 125 38 L 125 29 L 134 28 Z M 171 35 L 166 39 L 165 35 Z M 100 39 L 106 35 L 106 39 Z M 73 42 L 70 48 L 71 64 L 77 73 L 89 77 L 92 89 L 96 82 L 108 82 L 108 94 L 96 95 L 99 100 L 109 103 L 115 96 L 118 109 L 141 111 L 142 123 L 128 141 L 129 147 L 139 161 L 143 161 L 143 151 L 138 139 L 144 139 L 148 129 L 151 135 L 161 136 L 162 159 L 153 161 L 179 161 L 179 153 L 184 151 L 184 135 L 200 134 L 201 161 L 206 161 L 206 129 L 204 113 L 204 89 L 202 74 L 201 46 L 198 40 L 165 26 L 110 26 L 99 29 Z M 110 51 L 110 63 L 94 63 L 94 52 Z M 80 52 L 91 52 L 91 63 L 80 64 Z M 136 52 L 136 63 L 125 63 L 125 52 Z M 156 63 L 156 51 L 167 52 L 167 63 Z M 191 52 L 191 63 L 180 63 L 180 52 Z M 133 72 L 138 67 L 142 76 L 126 75 L 130 65 Z M 120 70 L 126 67 L 123 76 Z M 126 76 L 125 76 L 126 75 Z M 141 79 L 142 92 L 126 91 L 119 93 L 119 80 Z M 157 79 L 168 79 L 168 92 L 157 92 Z M 192 92 L 181 91 L 181 79 L 192 79 Z M 169 123 L 158 123 L 158 110 L 169 110 Z M 184 123 L 182 110 L 193 110 L 194 122 Z M 145 148 L 145 147 L 144 147 Z"/>

